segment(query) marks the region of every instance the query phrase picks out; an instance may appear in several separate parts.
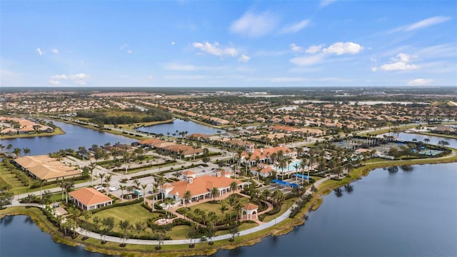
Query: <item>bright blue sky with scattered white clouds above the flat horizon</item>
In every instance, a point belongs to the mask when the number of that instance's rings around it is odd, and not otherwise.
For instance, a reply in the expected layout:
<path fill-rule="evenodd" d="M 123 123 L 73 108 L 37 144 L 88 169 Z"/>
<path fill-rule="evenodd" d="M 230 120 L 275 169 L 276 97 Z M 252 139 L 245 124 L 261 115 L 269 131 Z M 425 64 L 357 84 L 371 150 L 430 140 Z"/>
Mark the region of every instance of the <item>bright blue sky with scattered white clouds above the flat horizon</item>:
<path fill-rule="evenodd" d="M 457 86 L 457 1 L 0 1 L 0 86 Z"/>

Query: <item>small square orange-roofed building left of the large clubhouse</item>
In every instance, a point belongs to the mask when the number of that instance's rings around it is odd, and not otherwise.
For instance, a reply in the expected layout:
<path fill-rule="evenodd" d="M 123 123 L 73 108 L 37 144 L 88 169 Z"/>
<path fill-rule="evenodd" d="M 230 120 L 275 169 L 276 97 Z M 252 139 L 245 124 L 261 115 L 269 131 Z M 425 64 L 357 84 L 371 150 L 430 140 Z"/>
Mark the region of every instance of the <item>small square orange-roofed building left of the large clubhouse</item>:
<path fill-rule="evenodd" d="M 99 191 L 96 191 L 94 188 L 81 188 L 71 191 L 69 195 L 76 206 L 86 211 L 109 206 L 113 203 L 113 199 L 105 196 Z"/>

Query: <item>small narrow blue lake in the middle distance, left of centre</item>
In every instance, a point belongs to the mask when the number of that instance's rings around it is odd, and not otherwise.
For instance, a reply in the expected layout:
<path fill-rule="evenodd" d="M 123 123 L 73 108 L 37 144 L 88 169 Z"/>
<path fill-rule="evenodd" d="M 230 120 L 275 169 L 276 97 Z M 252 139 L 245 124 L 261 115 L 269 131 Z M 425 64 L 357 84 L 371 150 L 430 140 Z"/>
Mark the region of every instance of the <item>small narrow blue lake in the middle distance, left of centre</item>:
<path fill-rule="evenodd" d="M 187 131 L 188 135 L 193 134 L 193 133 L 204 133 L 204 134 L 209 134 L 213 135 L 216 134 L 217 131 L 221 131 L 224 133 L 225 131 L 223 129 L 214 129 L 209 126 L 204 126 L 201 124 L 197 124 L 194 121 L 184 121 L 181 119 L 175 119 L 173 123 L 169 124 L 158 124 L 154 126 L 144 126 L 138 129 L 138 131 L 144 131 L 144 132 L 149 132 L 149 133 L 162 133 L 165 136 L 167 136 L 167 132 L 170 133 L 170 136 L 173 136 L 173 133 L 176 133 L 176 131 Z M 179 135 L 177 135 L 179 136 Z"/>

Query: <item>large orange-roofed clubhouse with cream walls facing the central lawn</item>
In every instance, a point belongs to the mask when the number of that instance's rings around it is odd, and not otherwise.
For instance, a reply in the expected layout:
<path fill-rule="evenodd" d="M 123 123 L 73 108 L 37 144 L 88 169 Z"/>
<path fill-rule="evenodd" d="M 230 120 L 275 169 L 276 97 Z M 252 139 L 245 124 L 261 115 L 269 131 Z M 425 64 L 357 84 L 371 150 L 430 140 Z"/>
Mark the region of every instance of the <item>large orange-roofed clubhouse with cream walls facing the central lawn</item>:
<path fill-rule="evenodd" d="M 164 186 L 165 197 L 173 198 L 176 202 L 181 201 L 181 204 L 184 204 L 184 194 L 186 191 L 190 191 L 191 200 L 189 203 L 191 203 L 192 201 L 211 197 L 211 190 L 213 188 L 218 188 L 219 195 L 221 196 L 231 191 L 230 185 L 233 181 L 236 182 L 238 188 L 242 188 L 244 185 L 243 181 L 221 176 L 220 172 L 217 172 L 216 176 L 205 175 L 196 178 L 191 176 L 191 174 L 187 174 L 186 181 L 167 183 Z"/>

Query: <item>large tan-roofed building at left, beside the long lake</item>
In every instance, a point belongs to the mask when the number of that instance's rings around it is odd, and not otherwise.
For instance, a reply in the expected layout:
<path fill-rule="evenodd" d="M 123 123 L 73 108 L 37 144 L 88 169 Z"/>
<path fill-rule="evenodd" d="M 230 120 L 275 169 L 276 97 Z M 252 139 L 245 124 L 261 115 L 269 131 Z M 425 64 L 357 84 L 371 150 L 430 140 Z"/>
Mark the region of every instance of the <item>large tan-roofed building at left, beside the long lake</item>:
<path fill-rule="evenodd" d="M 34 178 L 44 181 L 55 181 L 57 179 L 74 178 L 81 176 L 81 171 L 66 166 L 55 158 L 46 155 L 41 156 L 22 156 L 15 158 L 13 163 L 21 167 L 23 171 L 29 173 Z"/>

